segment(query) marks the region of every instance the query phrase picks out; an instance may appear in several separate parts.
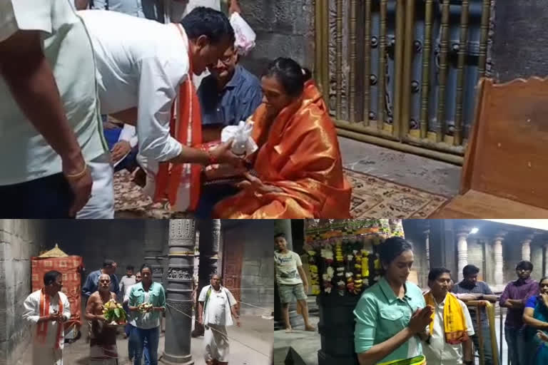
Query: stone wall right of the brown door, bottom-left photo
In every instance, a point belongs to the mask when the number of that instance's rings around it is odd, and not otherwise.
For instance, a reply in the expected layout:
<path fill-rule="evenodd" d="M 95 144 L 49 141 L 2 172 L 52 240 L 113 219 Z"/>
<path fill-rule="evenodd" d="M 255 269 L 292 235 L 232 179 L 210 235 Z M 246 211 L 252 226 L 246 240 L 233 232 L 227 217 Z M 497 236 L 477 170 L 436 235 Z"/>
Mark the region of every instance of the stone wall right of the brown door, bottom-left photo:
<path fill-rule="evenodd" d="M 241 304 L 241 314 L 270 315 L 274 310 L 274 257 L 270 241 L 273 230 L 273 220 L 255 220 L 241 230 L 245 242 L 241 302 L 255 306 Z M 265 242 L 265 237 L 269 241 Z"/>

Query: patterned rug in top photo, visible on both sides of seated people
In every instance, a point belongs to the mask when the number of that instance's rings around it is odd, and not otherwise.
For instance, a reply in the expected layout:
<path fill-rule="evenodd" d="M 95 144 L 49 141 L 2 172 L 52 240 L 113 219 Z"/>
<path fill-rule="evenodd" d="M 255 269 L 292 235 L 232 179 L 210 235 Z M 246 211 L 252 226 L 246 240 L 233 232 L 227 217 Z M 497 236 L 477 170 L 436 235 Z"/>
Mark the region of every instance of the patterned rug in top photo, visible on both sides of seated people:
<path fill-rule="evenodd" d="M 351 213 L 355 218 L 427 218 L 450 199 L 352 170 L 345 173 L 353 187 Z M 116 218 L 192 217 L 170 212 L 167 203 L 153 203 L 126 170 L 114 174 L 114 209 Z"/>

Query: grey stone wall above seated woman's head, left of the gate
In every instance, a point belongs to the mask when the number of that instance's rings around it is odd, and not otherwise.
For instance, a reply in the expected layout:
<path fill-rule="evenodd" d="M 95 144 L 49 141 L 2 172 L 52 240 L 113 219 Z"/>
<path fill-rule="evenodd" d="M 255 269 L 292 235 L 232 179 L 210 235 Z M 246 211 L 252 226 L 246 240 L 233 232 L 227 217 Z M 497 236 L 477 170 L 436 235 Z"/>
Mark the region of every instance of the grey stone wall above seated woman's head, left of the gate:
<path fill-rule="evenodd" d="M 290 57 L 314 63 L 313 0 L 240 0 L 242 16 L 257 34 L 256 46 L 241 63 L 260 75 L 269 61 Z"/>

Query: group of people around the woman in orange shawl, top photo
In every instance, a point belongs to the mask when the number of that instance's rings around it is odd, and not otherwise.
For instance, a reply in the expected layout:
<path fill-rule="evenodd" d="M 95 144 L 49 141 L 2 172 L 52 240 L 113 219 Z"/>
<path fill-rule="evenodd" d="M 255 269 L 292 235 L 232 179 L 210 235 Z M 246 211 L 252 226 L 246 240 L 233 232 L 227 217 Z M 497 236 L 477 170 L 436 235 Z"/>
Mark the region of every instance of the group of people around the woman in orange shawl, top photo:
<path fill-rule="evenodd" d="M 238 65 L 222 12 L 197 7 L 161 24 L 118 12 L 123 2 L 78 13 L 72 0 L 0 5 L 1 216 L 112 218 L 112 165 L 133 150 L 144 191 L 173 210 L 350 217 L 335 127 L 310 71 L 278 58 L 259 81 Z M 125 125 L 112 133 L 105 121 L 103 135 L 101 115 Z M 248 119 L 252 155 L 238 157 L 230 143 L 199 148 Z M 237 182 L 200 192 L 201 165 L 218 164 L 233 165 Z"/>

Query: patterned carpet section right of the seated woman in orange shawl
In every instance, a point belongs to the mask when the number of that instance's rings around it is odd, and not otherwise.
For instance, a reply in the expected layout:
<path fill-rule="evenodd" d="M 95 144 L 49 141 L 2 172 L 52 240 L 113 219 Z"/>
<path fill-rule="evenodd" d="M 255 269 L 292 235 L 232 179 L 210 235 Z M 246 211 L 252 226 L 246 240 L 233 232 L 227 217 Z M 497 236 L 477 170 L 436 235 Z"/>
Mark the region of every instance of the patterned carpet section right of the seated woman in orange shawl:
<path fill-rule="evenodd" d="M 427 218 L 450 200 L 365 173 L 345 169 L 345 175 L 352 185 L 354 218 Z"/>

